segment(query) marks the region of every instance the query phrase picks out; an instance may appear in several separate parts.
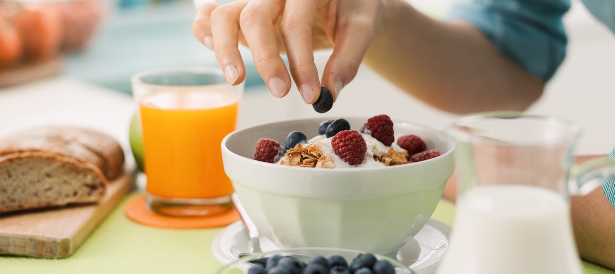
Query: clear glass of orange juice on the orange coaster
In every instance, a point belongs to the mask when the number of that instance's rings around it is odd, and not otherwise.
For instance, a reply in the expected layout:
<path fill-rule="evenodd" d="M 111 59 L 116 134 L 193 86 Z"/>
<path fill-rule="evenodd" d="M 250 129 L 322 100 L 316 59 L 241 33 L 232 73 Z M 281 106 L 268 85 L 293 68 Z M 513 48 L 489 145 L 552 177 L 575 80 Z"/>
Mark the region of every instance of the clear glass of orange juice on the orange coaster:
<path fill-rule="evenodd" d="M 218 68 L 153 69 L 132 77 L 151 211 L 207 216 L 232 209 L 220 143 L 235 130 L 243 91 Z"/>

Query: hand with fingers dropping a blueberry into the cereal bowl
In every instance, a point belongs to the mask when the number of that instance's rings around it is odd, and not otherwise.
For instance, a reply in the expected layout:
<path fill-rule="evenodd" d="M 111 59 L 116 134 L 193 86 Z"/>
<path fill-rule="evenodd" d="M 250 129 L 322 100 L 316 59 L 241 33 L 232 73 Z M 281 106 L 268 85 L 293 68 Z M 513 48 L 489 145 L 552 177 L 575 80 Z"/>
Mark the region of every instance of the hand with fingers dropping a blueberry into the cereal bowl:
<path fill-rule="evenodd" d="M 237 49 L 250 47 L 256 69 L 271 93 L 282 98 L 290 90 L 290 76 L 280 52 L 286 52 L 295 84 L 308 103 L 320 96 L 320 86 L 334 100 L 354 79 L 375 36 L 384 0 L 238 0 L 200 6 L 192 34 L 214 50 L 218 65 L 232 85 L 245 79 Z M 314 64 L 314 50 L 333 47 L 322 76 Z"/>

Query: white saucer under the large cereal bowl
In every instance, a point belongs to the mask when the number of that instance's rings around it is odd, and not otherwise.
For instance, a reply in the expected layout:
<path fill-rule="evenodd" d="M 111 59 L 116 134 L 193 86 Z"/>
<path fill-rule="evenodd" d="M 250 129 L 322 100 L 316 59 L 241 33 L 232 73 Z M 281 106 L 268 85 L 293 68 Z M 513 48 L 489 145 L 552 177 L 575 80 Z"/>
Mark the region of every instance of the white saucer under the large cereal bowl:
<path fill-rule="evenodd" d="M 448 249 L 450 233 L 451 228 L 448 225 L 429 219 L 423 229 L 399 249 L 396 254 L 397 260 L 408 265 L 416 274 L 434 273 Z M 263 251 L 280 249 L 266 237 L 261 237 L 260 243 Z M 244 224 L 237 221 L 216 235 L 212 243 L 212 252 L 218 262 L 226 265 L 238 260 L 239 254 L 248 252 L 251 245 Z"/>

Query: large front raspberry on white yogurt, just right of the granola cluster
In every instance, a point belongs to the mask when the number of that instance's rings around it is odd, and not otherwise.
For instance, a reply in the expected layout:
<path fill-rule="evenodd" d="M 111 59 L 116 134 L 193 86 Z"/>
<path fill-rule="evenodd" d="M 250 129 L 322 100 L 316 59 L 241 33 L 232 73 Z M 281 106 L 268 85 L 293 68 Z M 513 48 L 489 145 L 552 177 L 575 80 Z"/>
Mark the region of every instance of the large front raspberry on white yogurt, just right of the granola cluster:
<path fill-rule="evenodd" d="M 350 165 L 359 165 L 363 162 L 367 144 L 361 133 L 356 130 L 342 130 L 331 138 L 333 152 Z"/>

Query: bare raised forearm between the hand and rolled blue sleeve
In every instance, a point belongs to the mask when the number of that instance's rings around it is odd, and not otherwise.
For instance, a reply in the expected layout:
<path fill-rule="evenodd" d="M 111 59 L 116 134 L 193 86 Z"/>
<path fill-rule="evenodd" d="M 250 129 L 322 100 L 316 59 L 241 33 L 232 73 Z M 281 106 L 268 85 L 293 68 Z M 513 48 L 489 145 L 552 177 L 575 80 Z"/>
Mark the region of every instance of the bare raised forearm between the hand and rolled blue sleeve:
<path fill-rule="evenodd" d="M 523 110 L 543 88 L 477 29 L 434 20 L 400 0 L 387 1 L 365 63 L 419 100 L 455 113 Z"/>

